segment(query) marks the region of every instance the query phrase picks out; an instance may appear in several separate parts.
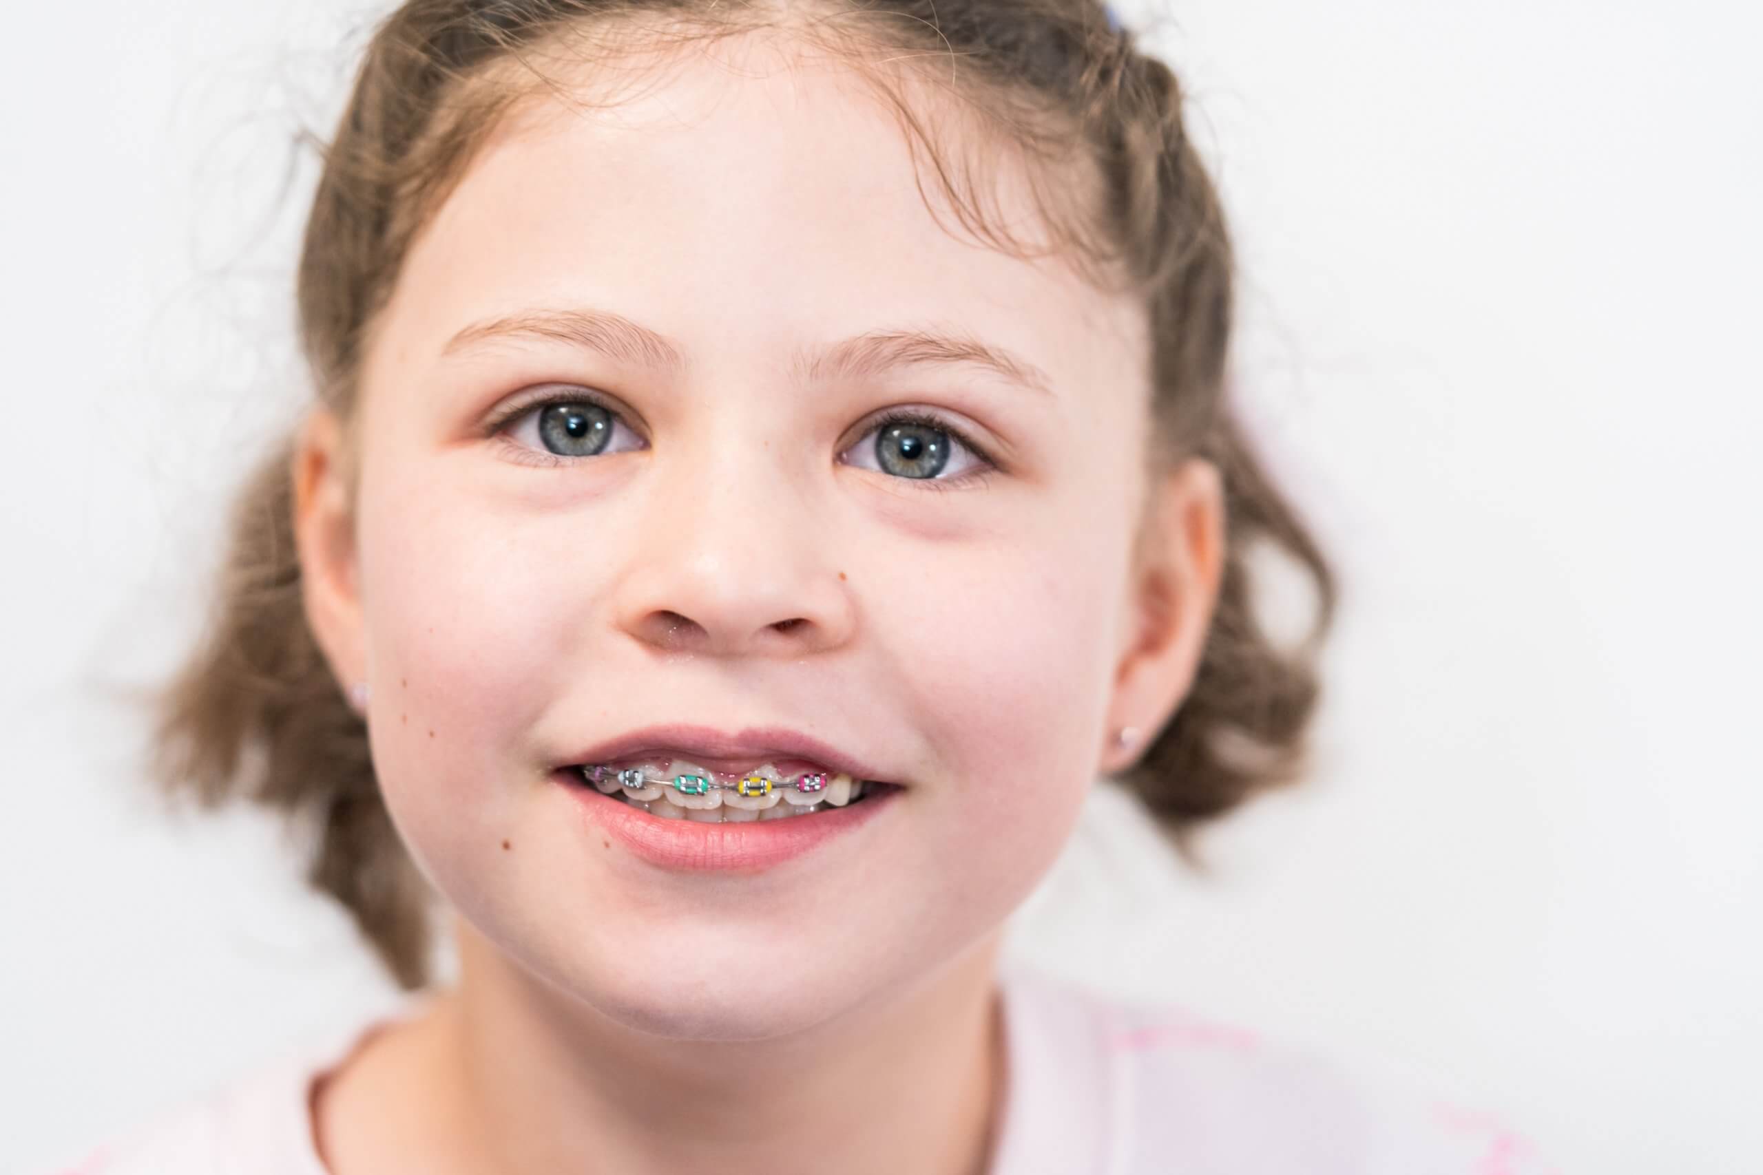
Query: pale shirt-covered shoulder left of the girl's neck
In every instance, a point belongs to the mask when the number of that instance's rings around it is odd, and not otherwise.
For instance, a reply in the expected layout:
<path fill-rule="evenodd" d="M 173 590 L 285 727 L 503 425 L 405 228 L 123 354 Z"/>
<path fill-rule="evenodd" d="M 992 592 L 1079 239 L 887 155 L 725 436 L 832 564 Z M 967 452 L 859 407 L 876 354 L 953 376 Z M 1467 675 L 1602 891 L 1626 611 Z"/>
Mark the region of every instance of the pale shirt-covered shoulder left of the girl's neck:
<path fill-rule="evenodd" d="M 333 1027 L 39 1175 L 326 1175 L 312 1140 L 312 1082 L 405 1015 L 381 1011 Z"/>

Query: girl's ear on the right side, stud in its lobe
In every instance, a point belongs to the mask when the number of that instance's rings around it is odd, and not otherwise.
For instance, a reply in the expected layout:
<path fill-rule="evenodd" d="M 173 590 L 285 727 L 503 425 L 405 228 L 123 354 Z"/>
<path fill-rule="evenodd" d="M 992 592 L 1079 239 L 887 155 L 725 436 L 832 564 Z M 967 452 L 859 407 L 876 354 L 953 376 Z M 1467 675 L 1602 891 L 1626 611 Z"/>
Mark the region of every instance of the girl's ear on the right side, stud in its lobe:
<path fill-rule="evenodd" d="M 1098 772 L 1139 759 L 1174 715 L 1199 671 L 1225 560 L 1224 477 L 1194 458 L 1151 486 L 1139 551 L 1127 583 L 1127 625 L 1114 666 Z M 1130 747 L 1114 731 L 1135 728 Z"/>

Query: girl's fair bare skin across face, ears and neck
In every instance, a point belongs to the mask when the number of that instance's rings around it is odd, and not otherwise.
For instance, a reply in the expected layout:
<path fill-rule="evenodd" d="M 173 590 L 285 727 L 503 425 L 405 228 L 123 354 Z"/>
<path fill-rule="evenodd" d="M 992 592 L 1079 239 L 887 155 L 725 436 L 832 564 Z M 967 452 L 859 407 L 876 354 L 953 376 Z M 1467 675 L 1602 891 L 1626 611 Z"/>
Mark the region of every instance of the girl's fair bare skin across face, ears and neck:
<path fill-rule="evenodd" d="M 1026 215 L 1023 176 L 996 183 Z M 1149 426 L 1142 308 L 943 225 L 837 63 L 730 41 L 615 109 L 510 120 L 418 236 L 365 358 L 358 470 L 319 409 L 293 477 L 309 618 L 370 685 L 460 981 L 316 1087 L 333 1171 L 986 1168 L 1003 923 L 1132 761 L 1112 731 L 1186 692 L 1224 523 L 1209 465 L 1151 483 L 1125 456 Z M 557 340 L 443 356 L 469 324 L 584 307 L 684 366 Z M 927 324 L 1049 389 L 790 366 Z M 606 451 L 520 460 L 548 454 L 539 409 L 487 435 L 539 386 L 603 393 Z M 947 491 L 889 472 L 894 407 L 998 469 L 957 446 Z M 795 726 L 908 787 L 765 874 L 670 874 L 550 779 L 670 721 Z"/>

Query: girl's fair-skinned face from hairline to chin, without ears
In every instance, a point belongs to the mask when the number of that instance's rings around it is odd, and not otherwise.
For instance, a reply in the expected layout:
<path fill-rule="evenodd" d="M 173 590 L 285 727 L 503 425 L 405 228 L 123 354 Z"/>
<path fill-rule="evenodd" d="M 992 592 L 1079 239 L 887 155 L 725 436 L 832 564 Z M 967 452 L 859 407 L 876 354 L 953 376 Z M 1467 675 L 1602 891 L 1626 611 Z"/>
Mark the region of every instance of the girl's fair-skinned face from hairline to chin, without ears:
<path fill-rule="evenodd" d="M 367 356 L 326 647 L 358 650 L 386 802 L 476 934 L 633 1027 L 779 1036 L 996 942 L 1097 777 L 1142 312 L 943 220 L 839 67 L 695 58 L 504 125 Z M 541 428 L 552 393 L 610 435 Z M 889 440 L 903 409 L 945 432 Z M 672 722 L 792 728 L 904 791 L 762 872 L 663 868 L 557 770 Z"/>

